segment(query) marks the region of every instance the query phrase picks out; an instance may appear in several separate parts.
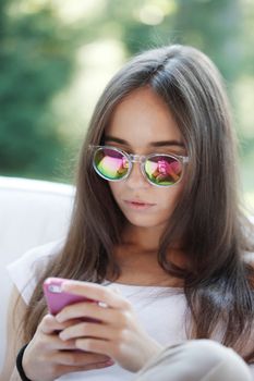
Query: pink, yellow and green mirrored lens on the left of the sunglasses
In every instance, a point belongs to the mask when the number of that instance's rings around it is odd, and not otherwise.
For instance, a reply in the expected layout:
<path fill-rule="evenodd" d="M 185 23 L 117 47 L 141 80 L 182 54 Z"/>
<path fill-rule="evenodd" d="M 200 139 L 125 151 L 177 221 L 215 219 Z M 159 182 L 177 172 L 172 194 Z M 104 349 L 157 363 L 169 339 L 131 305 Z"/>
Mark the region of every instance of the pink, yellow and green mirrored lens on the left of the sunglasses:
<path fill-rule="evenodd" d="M 110 148 L 98 149 L 94 161 L 99 173 L 109 180 L 122 179 L 129 169 L 126 158 L 121 152 Z"/>

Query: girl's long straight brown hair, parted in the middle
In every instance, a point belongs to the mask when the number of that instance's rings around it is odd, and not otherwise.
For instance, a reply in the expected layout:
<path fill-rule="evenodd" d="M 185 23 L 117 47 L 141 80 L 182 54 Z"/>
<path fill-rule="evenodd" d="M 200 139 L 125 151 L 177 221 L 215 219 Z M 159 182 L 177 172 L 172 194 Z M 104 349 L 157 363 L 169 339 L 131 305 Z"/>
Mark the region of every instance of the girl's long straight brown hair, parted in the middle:
<path fill-rule="evenodd" d="M 254 345 L 249 351 L 244 346 L 254 318 L 254 276 L 244 251 L 254 248 L 240 209 L 229 106 L 220 74 L 210 60 L 179 45 L 133 58 L 101 95 L 80 156 L 70 231 L 63 249 L 50 260 L 34 291 L 24 320 L 25 340 L 32 339 L 46 311 L 41 293 L 46 276 L 101 283 L 108 270 L 114 280 L 120 274 L 112 251 L 121 243 L 124 217 L 107 182 L 92 168 L 89 145 L 104 142 L 114 108 L 142 86 L 149 86 L 168 105 L 190 157 L 184 189 L 160 239 L 158 262 L 169 275 L 184 280 L 192 317 L 189 336 L 213 339 L 223 327 L 222 344 L 252 361 Z M 169 248 L 179 239 L 190 259 L 188 269 L 167 259 Z"/>

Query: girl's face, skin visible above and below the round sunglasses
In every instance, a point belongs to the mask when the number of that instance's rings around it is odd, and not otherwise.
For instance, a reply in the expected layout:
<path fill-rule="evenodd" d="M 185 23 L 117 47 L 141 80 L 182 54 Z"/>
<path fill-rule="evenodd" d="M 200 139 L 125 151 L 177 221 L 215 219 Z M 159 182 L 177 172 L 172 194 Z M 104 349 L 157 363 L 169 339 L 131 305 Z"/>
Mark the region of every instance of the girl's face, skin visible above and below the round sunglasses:
<path fill-rule="evenodd" d="M 148 87 L 133 91 L 116 108 L 106 128 L 105 144 L 129 153 L 177 153 L 185 156 L 182 136 L 164 100 Z M 135 226 L 164 226 L 178 202 L 183 180 L 170 187 L 147 182 L 140 163 L 130 176 L 109 182 L 126 220 Z"/>

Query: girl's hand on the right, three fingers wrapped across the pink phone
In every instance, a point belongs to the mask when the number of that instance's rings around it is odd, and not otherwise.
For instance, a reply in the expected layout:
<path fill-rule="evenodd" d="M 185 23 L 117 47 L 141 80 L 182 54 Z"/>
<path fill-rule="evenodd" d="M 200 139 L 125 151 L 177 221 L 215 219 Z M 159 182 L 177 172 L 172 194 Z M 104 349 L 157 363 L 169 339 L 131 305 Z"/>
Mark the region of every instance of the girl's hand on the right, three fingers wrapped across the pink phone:
<path fill-rule="evenodd" d="M 161 351 L 162 347 L 140 325 L 130 302 L 114 291 L 78 281 L 66 281 L 62 288 L 99 302 L 74 304 L 57 315 L 56 319 L 61 323 L 84 317 L 97 320 L 69 324 L 59 334 L 63 342 L 71 341 L 77 348 L 109 356 L 122 368 L 134 372 Z"/>

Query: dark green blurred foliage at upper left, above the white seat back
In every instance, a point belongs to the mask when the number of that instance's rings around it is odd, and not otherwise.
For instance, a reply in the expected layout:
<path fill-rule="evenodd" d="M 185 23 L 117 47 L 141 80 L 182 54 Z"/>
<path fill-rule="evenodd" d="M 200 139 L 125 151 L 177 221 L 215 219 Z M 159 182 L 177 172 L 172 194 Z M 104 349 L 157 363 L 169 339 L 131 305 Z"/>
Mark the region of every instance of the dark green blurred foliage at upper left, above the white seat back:
<path fill-rule="evenodd" d="M 10 1 L 1 2 L 0 171 L 50 177 L 64 144 L 51 100 L 71 79 L 71 39 L 47 4 L 13 15 L 9 7 Z"/>

